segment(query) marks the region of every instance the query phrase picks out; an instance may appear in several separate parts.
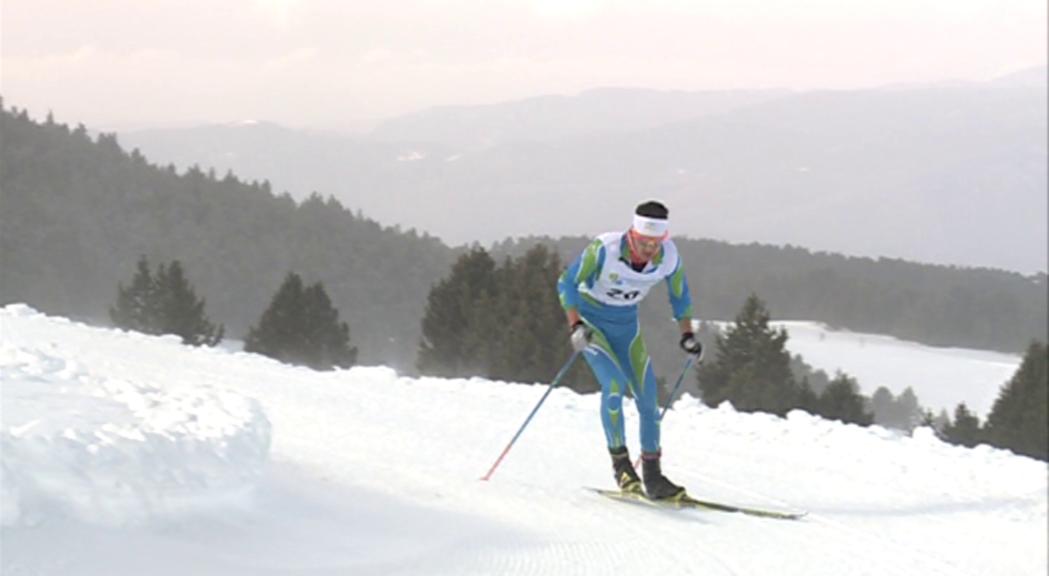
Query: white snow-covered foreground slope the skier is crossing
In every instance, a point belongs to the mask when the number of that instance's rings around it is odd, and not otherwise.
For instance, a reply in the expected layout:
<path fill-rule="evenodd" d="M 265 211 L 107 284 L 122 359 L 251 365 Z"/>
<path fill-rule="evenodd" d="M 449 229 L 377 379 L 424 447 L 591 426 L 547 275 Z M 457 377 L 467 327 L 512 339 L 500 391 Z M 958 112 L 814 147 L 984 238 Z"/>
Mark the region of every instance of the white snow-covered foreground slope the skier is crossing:
<path fill-rule="evenodd" d="M 582 489 L 612 485 L 594 394 L 555 389 L 481 482 L 542 386 L 315 372 L 19 305 L 0 343 L 5 575 L 1049 568 L 1046 464 L 926 429 L 685 398 L 663 424 L 672 479 L 809 515 L 652 510 Z"/>

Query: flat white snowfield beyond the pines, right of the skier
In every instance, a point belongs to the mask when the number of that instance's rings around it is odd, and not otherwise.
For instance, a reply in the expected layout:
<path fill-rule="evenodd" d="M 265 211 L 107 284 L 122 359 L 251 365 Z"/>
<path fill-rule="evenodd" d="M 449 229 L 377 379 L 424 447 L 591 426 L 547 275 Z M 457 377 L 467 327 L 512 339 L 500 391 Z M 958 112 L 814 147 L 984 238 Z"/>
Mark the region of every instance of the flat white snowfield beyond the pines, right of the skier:
<path fill-rule="evenodd" d="M 772 322 L 790 335 L 787 349 L 834 377 L 838 370 L 857 379 L 872 396 L 880 386 L 899 396 L 908 386 L 924 408 L 954 414 L 964 402 L 981 419 L 990 413 L 999 391 L 1022 358 L 1016 355 L 943 348 L 891 336 L 835 330 L 818 322 Z"/>

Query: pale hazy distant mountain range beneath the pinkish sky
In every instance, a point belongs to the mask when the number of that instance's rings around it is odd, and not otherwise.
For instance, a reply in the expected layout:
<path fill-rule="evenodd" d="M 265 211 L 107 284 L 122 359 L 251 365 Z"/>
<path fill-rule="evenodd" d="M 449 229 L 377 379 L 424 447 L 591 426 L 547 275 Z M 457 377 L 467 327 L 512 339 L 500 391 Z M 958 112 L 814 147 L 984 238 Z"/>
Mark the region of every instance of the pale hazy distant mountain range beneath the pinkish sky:
<path fill-rule="evenodd" d="M 1047 268 L 1046 68 L 851 91 L 601 89 L 442 107 L 370 134 L 238 124 L 120 134 L 151 159 L 333 195 L 451 243 L 624 227 L 861 256 Z"/>

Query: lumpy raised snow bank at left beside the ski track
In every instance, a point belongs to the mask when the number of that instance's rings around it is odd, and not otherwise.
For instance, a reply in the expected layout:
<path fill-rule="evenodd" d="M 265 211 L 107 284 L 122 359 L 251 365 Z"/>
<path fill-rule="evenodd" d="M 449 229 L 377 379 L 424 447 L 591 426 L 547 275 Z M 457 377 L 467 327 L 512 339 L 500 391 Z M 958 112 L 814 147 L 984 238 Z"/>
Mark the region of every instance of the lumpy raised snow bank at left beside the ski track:
<path fill-rule="evenodd" d="M 53 343 L 16 343 L 9 320 L 36 315 L 4 308 L 0 524 L 50 514 L 134 524 L 250 493 L 270 447 L 256 401 L 191 381 L 160 387 L 102 376 Z"/>

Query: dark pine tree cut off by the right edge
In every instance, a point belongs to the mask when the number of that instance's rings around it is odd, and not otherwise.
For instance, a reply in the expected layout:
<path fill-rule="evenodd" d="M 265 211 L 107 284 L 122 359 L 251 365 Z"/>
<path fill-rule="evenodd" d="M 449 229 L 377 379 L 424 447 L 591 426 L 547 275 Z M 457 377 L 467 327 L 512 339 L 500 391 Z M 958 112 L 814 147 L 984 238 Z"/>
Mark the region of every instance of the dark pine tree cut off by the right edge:
<path fill-rule="evenodd" d="M 1049 346 L 1032 342 L 987 417 L 987 442 L 1049 461 Z"/>

